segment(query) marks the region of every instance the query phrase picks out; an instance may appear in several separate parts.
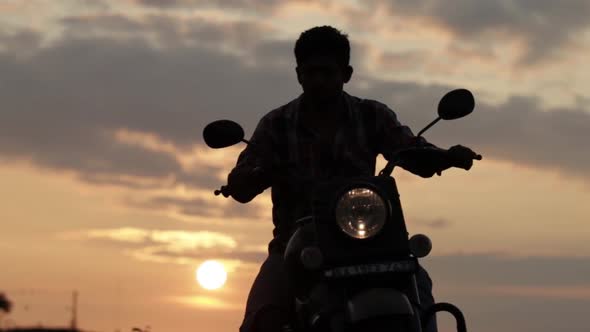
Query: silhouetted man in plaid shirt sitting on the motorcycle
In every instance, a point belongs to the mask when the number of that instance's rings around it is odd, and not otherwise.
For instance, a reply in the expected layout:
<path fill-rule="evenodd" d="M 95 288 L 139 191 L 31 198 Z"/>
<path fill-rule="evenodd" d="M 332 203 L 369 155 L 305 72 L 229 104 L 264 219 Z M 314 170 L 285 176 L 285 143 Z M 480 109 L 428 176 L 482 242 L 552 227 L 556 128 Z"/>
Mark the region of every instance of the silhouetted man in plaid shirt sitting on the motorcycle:
<path fill-rule="evenodd" d="M 310 189 L 300 181 L 277 181 L 281 172 L 303 174 L 317 181 L 334 176 L 372 176 L 378 154 L 389 159 L 395 150 L 428 145 L 400 124 L 395 113 L 374 100 L 353 97 L 343 90 L 353 73 L 348 37 L 322 26 L 301 33 L 295 43 L 296 72 L 303 93 L 266 114 L 251 143 L 228 176 L 227 193 L 246 203 L 272 187 L 274 238 L 269 255 L 252 285 L 241 332 L 278 332 L 293 313 L 283 252 L 295 220 L 309 215 Z M 476 154 L 456 145 L 440 149 L 435 160 L 404 160 L 402 167 L 431 177 L 449 167 L 470 169 Z M 287 172 L 286 170 L 289 170 Z M 422 268 L 417 273 L 424 307 L 434 303 L 432 282 Z M 424 331 L 435 332 L 436 321 Z"/>

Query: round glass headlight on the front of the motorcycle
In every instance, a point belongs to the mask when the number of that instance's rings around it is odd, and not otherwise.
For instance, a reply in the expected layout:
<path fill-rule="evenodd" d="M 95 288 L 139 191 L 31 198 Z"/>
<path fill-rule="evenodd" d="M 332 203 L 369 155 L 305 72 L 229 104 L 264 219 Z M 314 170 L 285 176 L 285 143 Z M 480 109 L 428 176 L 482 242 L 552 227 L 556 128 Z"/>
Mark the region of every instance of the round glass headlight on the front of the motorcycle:
<path fill-rule="evenodd" d="M 336 203 L 336 222 L 348 236 L 367 239 L 381 231 L 387 219 L 383 198 L 369 188 L 345 192 Z"/>

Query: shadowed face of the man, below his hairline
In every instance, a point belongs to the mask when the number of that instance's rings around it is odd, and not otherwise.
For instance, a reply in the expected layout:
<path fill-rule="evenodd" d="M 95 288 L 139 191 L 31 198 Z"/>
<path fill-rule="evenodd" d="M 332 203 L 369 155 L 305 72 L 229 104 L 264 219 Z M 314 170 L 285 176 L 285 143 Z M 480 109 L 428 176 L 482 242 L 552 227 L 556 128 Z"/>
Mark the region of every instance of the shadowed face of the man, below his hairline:
<path fill-rule="evenodd" d="M 306 97 L 319 104 L 337 100 L 352 74 L 352 67 L 342 66 L 330 56 L 312 56 L 296 70 Z"/>

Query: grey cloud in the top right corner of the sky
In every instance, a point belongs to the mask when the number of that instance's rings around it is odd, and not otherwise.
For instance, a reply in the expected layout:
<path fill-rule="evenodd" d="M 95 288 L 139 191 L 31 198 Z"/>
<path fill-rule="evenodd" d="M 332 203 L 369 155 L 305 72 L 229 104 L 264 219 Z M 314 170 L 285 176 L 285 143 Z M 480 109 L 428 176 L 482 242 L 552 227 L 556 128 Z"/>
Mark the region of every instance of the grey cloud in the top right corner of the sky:
<path fill-rule="evenodd" d="M 562 48 L 577 43 L 577 37 L 590 27 L 590 2 L 586 0 L 372 0 L 369 3 L 373 10 L 377 5 L 385 5 L 395 17 L 434 22 L 459 39 L 475 44 L 521 40 L 525 54 L 519 64 L 523 65 L 561 55 Z"/>

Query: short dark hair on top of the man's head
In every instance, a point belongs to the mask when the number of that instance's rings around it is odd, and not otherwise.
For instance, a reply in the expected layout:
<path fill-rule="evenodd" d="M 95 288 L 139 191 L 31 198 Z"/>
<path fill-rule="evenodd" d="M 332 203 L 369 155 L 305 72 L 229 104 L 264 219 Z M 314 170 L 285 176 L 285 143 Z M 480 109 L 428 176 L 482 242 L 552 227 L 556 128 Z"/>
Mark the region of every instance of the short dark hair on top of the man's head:
<path fill-rule="evenodd" d="M 295 42 L 295 60 L 301 65 L 315 55 L 327 55 L 342 66 L 350 62 L 348 35 L 331 26 L 311 28 L 301 33 Z"/>

